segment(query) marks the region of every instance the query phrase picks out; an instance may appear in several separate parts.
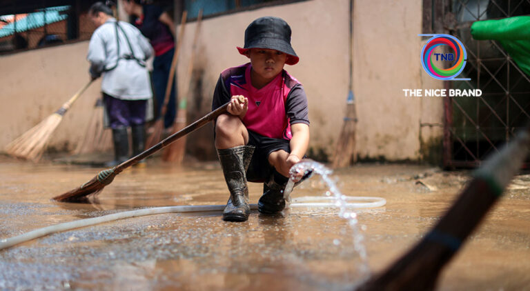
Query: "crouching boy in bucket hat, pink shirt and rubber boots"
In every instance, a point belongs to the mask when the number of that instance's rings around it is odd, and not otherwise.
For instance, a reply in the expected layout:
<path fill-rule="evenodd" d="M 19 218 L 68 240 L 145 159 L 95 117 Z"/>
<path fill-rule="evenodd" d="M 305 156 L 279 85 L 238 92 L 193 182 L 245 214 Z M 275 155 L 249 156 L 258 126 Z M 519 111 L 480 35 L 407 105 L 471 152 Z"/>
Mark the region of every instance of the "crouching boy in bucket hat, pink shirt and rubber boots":
<path fill-rule="evenodd" d="M 244 48 L 237 50 L 251 62 L 221 73 L 212 105 L 215 110 L 230 101 L 228 113 L 215 121 L 215 148 L 230 191 L 225 221 L 248 219 L 247 181 L 264 183 L 259 212 L 284 210 L 289 169 L 304 157 L 309 143 L 306 93 L 284 70 L 285 64 L 299 61 L 286 21 L 256 19 L 245 30 Z"/>

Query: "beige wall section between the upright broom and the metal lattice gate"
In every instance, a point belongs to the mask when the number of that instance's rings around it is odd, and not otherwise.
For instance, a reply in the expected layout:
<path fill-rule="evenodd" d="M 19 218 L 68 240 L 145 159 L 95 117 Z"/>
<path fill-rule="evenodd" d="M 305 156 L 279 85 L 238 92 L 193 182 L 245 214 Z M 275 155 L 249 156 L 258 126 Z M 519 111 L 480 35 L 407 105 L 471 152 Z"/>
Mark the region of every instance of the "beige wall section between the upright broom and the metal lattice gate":
<path fill-rule="evenodd" d="M 442 99 L 404 97 L 402 92 L 442 86 L 426 76 L 420 63 L 421 2 L 356 1 L 355 93 L 361 157 L 420 159 L 420 123 L 442 122 Z M 438 136 L 437 129 L 426 130 L 422 138 Z"/>

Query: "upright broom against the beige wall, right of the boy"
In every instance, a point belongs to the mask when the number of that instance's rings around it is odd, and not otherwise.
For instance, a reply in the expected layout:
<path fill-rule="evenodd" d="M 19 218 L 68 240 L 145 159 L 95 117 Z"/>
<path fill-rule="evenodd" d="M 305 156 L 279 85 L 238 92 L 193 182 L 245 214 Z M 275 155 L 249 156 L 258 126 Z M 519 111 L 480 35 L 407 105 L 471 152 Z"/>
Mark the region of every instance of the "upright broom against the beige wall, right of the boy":
<path fill-rule="evenodd" d="M 350 46 L 349 46 L 349 94 L 346 99 L 346 117 L 342 123 L 340 137 L 337 142 L 337 148 L 333 153 L 332 168 L 344 168 L 351 162 L 357 161 L 355 152 L 355 129 L 357 127 L 357 110 L 355 109 L 355 97 L 353 95 L 353 6 L 354 0 L 350 0 Z"/>

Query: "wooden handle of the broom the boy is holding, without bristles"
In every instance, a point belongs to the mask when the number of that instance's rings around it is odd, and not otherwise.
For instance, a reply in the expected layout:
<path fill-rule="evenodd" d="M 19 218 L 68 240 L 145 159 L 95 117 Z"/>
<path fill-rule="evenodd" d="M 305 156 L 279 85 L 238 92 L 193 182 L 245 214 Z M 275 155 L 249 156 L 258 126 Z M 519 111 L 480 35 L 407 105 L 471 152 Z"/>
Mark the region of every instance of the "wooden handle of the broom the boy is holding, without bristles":
<path fill-rule="evenodd" d="M 244 103 L 245 99 L 242 96 L 239 96 L 239 102 Z M 176 141 L 177 139 L 180 139 L 181 137 L 184 137 L 186 134 L 193 132 L 199 128 L 202 128 L 206 124 L 208 124 L 210 121 L 213 121 L 219 115 L 226 113 L 226 108 L 228 108 L 228 104 L 230 104 L 230 101 L 228 101 L 223 106 L 217 108 L 216 110 L 213 110 L 212 112 L 206 114 L 201 119 L 195 121 L 194 123 L 191 123 L 189 126 L 186 126 L 182 130 L 179 130 L 178 132 L 175 132 L 174 134 L 171 134 L 166 139 L 163 139 L 156 145 L 153 145 L 152 147 L 148 148 L 144 152 L 141 152 L 136 157 L 132 157 L 128 159 L 127 161 L 124 161 L 123 163 L 120 163 L 119 165 L 114 168 L 114 172 L 118 174 L 119 172 L 125 170 L 126 168 L 130 167 L 131 165 L 134 165 L 135 163 L 138 163 L 139 161 L 145 159 L 146 157 L 149 157 L 151 154 L 154 154 L 155 152 L 161 150 L 162 148 L 166 148 L 166 146 L 170 145 L 170 143 L 173 143 L 173 141 Z"/>

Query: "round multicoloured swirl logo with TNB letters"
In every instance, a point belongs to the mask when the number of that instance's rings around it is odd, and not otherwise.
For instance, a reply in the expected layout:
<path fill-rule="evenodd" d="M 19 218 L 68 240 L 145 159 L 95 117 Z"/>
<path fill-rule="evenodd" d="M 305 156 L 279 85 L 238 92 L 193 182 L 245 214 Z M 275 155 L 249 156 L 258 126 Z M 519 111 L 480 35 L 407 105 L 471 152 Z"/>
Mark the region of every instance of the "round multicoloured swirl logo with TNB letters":
<path fill-rule="evenodd" d="M 449 34 L 418 34 L 420 37 L 431 37 L 422 49 L 422 67 L 431 77 L 443 81 L 471 80 L 457 77 L 467 61 L 467 52 L 462 42 Z M 435 53 L 435 48 L 449 46 L 453 52 Z M 435 61 L 451 62 L 449 68 L 438 68 Z"/>

